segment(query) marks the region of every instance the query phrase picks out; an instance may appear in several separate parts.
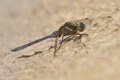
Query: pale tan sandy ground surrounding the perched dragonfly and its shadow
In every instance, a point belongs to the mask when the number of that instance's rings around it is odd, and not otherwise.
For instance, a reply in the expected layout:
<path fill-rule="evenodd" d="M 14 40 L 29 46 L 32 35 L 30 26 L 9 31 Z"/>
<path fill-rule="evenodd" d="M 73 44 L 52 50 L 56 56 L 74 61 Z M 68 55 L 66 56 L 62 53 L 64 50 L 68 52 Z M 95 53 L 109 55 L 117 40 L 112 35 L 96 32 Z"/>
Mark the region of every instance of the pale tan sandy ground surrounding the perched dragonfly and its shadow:
<path fill-rule="evenodd" d="M 86 44 L 70 41 L 53 57 L 49 39 L 18 52 L 10 50 L 46 36 L 64 22 L 93 19 Z M 28 58 L 22 55 L 32 55 Z M 0 80 L 120 80 L 119 0 L 0 0 Z"/>

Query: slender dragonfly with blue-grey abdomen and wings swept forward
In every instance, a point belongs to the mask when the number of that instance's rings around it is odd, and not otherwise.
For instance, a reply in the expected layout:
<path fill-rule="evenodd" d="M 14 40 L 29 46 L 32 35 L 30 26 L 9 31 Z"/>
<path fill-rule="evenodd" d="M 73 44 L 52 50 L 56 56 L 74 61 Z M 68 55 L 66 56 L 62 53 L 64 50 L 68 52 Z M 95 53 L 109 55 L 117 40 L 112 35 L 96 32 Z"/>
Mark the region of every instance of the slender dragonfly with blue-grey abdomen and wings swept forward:
<path fill-rule="evenodd" d="M 79 39 L 81 41 L 82 36 L 87 35 L 85 33 L 81 33 L 85 30 L 87 24 L 91 24 L 93 20 L 99 19 L 99 18 L 111 18 L 111 16 L 104 16 L 104 17 L 97 17 L 97 18 L 84 18 L 80 20 L 73 20 L 65 22 L 60 28 L 56 31 L 53 31 L 51 34 L 39 38 L 37 40 L 34 40 L 32 42 L 29 42 L 27 44 L 24 44 L 22 46 L 16 47 L 12 49 L 12 52 L 22 50 L 24 48 L 27 48 L 33 44 L 36 44 L 38 42 L 44 41 L 49 38 L 55 38 L 54 46 L 51 46 L 49 49 L 54 48 L 54 56 L 56 56 L 56 52 L 61 48 L 62 44 L 72 40 L 73 38 Z M 65 37 L 67 36 L 67 37 Z M 58 43 L 58 38 L 62 38 L 62 40 Z"/>

